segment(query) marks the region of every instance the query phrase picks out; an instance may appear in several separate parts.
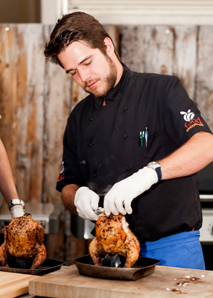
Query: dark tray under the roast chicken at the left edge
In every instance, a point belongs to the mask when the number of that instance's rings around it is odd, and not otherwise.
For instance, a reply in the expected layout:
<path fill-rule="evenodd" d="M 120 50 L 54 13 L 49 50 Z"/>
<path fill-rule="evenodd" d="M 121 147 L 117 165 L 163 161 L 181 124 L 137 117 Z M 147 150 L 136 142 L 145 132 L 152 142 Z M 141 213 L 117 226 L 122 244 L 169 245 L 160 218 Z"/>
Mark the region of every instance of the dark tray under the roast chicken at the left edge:
<path fill-rule="evenodd" d="M 65 262 L 53 260 L 53 259 L 46 259 L 41 266 L 36 269 L 20 269 L 20 268 L 8 268 L 2 267 L 0 265 L 0 271 L 5 272 L 13 272 L 13 273 L 24 273 L 24 274 L 32 274 L 32 275 L 44 275 L 56 270 L 59 270 Z"/>

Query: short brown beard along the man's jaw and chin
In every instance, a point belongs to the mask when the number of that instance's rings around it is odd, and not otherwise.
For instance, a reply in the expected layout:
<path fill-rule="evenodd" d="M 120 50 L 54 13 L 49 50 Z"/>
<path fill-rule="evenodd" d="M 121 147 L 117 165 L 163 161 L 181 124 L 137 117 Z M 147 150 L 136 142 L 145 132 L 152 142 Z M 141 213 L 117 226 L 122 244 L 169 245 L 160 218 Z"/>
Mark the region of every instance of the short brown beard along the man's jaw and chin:
<path fill-rule="evenodd" d="M 87 93 L 93 94 L 97 98 L 105 97 L 107 95 L 107 93 L 115 86 L 115 82 L 117 80 L 117 70 L 116 70 L 114 62 L 108 56 L 106 56 L 106 60 L 109 65 L 110 73 L 108 74 L 108 76 L 106 78 L 104 78 L 104 81 L 102 81 L 102 84 L 105 84 L 105 88 L 100 92 L 98 92 L 98 91 L 95 92 L 95 90 L 94 90 L 94 92 L 91 92 L 86 89 L 88 83 L 85 83 L 85 86 L 83 88 Z"/>

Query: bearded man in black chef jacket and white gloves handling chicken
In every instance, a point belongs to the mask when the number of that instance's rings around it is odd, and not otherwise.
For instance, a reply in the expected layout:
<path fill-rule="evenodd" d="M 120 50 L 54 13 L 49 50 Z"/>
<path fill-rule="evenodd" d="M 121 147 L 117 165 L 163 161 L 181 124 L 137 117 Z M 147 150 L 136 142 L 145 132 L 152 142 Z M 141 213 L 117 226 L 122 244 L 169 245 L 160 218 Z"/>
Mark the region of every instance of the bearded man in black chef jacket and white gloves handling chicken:
<path fill-rule="evenodd" d="M 196 172 L 213 160 L 213 136 L 179 79 L 122 64 L 92 16 L 64 16 L 45 55 L 90 95 L 71 112 L 57 190 L 84 219 L 122 213 L 141 255 L 204 269 Z M 205 154 L 204 154 L 205 153 Z"/>

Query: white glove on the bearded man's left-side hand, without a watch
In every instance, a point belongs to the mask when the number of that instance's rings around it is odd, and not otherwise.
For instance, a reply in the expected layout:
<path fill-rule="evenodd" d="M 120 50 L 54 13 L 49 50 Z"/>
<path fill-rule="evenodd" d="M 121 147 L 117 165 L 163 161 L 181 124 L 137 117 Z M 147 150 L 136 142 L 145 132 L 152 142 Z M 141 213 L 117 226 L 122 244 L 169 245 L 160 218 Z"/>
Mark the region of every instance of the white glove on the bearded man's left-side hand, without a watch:
<path fill-rule="evenodd" d="M 78 215 L 83 219 L 98 219 L 98 215 L 94 212 L 98 209 L 98 202 L 99 196 L 88 187 L 82 186 L 76 191 L 74 205 Z"/>

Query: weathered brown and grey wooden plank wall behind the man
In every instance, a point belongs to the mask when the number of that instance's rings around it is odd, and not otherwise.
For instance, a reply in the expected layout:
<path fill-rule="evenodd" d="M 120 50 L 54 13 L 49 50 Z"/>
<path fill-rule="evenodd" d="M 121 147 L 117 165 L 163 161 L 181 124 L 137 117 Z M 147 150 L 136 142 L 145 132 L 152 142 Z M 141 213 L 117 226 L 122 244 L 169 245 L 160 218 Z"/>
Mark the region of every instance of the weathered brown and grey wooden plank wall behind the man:
<path fill-rule="evenodd" d="M 51 29 L 42 24 L 0 24 L 0 136 L 25 202 L 61 203 L 55 184 L 63 132 L 71 109 L 86 95 L 63 69 L 45 60 Z M 132 70 L 177 75 L 213 129 L 213 26 L 106 29 Z M 65 229 L 54 250 L 58 247 L 58 256 L 70 262 L 84 254 L 87 245 L 70 233 L 69 213 L 63 221 Z M 56 252 L 50 254 L 57 258 Z"/>

